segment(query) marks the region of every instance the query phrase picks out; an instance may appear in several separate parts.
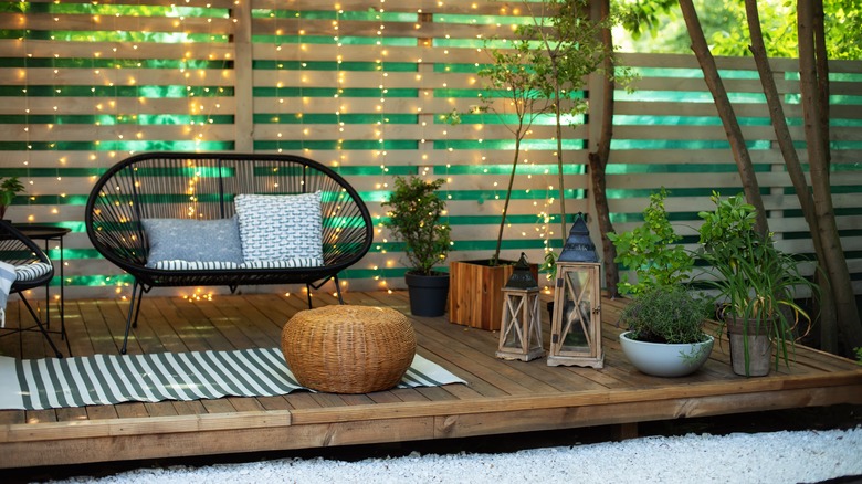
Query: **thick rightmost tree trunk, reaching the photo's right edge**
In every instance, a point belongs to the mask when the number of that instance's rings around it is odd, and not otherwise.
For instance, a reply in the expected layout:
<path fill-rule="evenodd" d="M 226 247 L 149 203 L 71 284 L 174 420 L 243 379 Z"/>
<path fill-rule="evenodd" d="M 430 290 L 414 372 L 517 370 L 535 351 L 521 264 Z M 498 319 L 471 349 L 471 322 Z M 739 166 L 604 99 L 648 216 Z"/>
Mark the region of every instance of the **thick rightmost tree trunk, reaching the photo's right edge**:
<path fill-rule="evenodd" d="M 814 214 L 819 221 L 820 241 L 827 257 L 828 278 L 832 286 L 839 332 L 843 335 L 844 350 L 862 346 L 862 324 L 860 324 L 850 272 L 838 234 L 835 213 L 832 207 L 829 175 L 829 140 L 824 138 L 823 93 L 828 92 L 827 73 L 818 70 L 814 48 L 814 0 L 799 0 L 797 4 L 799 29 L 799 88 L 802 95 L 802 116 L 808 148 L 808 162 L 813 189 Z M 821 70 L 823 67 L 821 66 Z M 819 77 L 821 74 L 822 77 Z"/>

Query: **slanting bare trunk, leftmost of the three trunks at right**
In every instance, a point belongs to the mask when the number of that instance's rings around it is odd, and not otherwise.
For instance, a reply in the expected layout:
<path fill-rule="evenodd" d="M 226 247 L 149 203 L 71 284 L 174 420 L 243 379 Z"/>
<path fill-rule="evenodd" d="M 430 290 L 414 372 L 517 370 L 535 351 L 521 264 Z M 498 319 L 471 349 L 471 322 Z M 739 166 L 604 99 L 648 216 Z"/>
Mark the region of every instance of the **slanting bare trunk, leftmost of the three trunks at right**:
<path fill-rule="evenodd" d="M 722 77 L 718 75 L 718 67 L 715 65 L 715 59 L 713 59 L 709 46 L 706 44 L 706 39 L 704 38 L 703 29 L 701 28 L 701 21 L 697 18 L 697 11 L 694 9 L 692 0 L 679 1 L 683 18 L 685 19 L 685 25 L 688 28 L 688 36 L 692 40 L 692 51 L 694 51 L 697 62 L 701 64 L 704 81 L 706 81 L 706 85 L 713 94 L 715 107 L 718 111 L 718 117 L 722 118 L 722 125 L 727 135 L 727 140 L 730 143 L 730 149 L 734 154 L 736 168 L 739 171 L 739 180 L 743 185 L 745 198 L 748 200 L 748 203 L 753 204 L 756 209 L 757 231 L 761 234 L 766 234 L 769 231 L 769 225 L 766 221 L 766 208 L 764 207 L 764 199 L 760 197 L 760 187 L 757 182 L 757 175 L 755 173 L 754 165 L 751 164 L 751 157 L 748 152 L 748 148 L 745 146 L 743 130 L 736 119 L 736 114 L 734 113 L 733 105 L 730 105 L 730 99 L 727 97 L 727 91 L 724 88 Z"/>

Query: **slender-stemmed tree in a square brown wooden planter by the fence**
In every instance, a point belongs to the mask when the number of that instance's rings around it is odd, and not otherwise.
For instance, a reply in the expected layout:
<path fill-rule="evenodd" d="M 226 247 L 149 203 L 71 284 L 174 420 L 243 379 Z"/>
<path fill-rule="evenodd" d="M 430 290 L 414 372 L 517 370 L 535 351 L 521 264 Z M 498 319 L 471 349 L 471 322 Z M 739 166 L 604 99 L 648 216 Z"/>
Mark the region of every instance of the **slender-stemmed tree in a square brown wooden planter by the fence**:
<path fill-rule="evenodd" d="M 490 260 L 453 261 L 450 263 L 452 287 L 450 319 L 483 329 L 497 329 L 502 315 L 503 284 L 512 274 L 514 261 L 500 260 L 503 229 L 508 214 L 513 180 L 518 165 L 524 137 L 537 116 L 554 117 L 557 144 L 557 177 L 560 203 L 560 236 L 566 230 L 566 189 L 564 186 L 563 126 L 575 125 L 587 109 L 581 98 L 586 77 L 600 69 L 603 59 L 611 53 L 597 35 L 605 22 L 589 20 L 589 2 L 585 0 L 522 0 L 533 17 L 532 24 L 518 25 L 516 38 L 509 39 L 511 49 L 487 50 L 493 63 L 479 71 L 486 83 L 483 99 L 485 108 L 493 109 L 488 99 L 505 97 L 509 112 L 498 112 L 501 120 L 513 119 L 507 125 L 514 138 L 514 157 L 508 178 L 496 248 Z M 606 73 L 612 74 L 612 73 Z M 530 264 L 534 276 L 538 265 Z M 538 278 L 538 277 L 537 277 Z"/>

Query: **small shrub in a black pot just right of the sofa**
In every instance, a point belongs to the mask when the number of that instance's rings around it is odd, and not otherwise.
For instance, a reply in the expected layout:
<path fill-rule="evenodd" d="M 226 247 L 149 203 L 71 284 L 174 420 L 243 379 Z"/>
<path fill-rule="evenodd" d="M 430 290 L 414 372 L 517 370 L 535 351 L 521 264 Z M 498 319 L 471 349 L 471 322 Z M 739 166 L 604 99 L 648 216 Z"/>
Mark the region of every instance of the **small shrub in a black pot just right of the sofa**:
<path fill-rule="evenodd" d="M 396 177 L 395 191 L 383 202 L 389 219 L 383 225 L 392 238 L 404 244 L 410 270 L 404 274 L 410 295 L 410 312 L 414 316 L 442 316 L 449 293 L 449 274 L 435 271 L 443 263 L 451 245 L 450 227 L 441 223 L 445 201 L 437 190 L 445 182 L 440 178 L 424 181 L 412 176 Z"/>

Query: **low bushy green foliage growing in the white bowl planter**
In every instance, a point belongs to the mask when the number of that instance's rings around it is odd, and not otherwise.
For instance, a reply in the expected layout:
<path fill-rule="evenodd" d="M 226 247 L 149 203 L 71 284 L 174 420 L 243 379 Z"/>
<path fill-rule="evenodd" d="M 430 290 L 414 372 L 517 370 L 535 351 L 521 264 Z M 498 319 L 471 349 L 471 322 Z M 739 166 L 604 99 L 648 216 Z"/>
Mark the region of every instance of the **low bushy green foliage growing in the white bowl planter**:
<path fill-rule="evenodd" d="M 620 324 L 639 341 L 701 343 L 706 339 L 703 323 L 709 312 L 707 299 L 682 285 L 654 286 L 634 296 L 622 311 Z"/>

